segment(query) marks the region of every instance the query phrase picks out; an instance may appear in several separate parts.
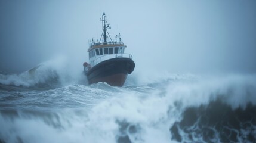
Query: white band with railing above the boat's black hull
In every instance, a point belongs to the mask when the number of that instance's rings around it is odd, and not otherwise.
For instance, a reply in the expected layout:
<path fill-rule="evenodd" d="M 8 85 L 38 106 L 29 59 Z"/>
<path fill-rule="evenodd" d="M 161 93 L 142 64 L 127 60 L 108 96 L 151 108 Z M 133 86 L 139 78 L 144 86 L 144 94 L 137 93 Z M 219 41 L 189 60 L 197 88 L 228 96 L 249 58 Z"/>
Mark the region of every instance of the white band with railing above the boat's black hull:
<path fill-rule="evenodd" d="M 101 61 L 109 60 L 111 58 L 131 58 L 132 59 L 132 55 L 131 54 L 127 54 L 127 53 L 103 55 L 103 56 L 98 57 L 95 60 L 93 60 L 91 62 L 91 66 L 93 67 L 96 64 L 100 63 Z"/>

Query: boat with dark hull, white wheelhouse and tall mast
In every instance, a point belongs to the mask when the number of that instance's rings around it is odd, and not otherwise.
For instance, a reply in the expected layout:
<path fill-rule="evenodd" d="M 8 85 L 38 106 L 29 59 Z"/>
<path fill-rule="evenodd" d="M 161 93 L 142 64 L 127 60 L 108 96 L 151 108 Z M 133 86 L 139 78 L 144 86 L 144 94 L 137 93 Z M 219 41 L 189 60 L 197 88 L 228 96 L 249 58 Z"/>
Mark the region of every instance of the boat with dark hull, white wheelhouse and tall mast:
<path fill-rule="evenodd" d="M 135 63 L 132 55 L 125 53 L 126 45 L 121 40 L 121 35 L 116 35 L 115 41 L 109 35 L 106 14 L 103 13 L 100 40 L 89 40 L 89 63 L 85 62 L 84 74 L 89 84 L 106 82 L 110 86 L 123 86 L 127 75 L 134 71 Z"/>

